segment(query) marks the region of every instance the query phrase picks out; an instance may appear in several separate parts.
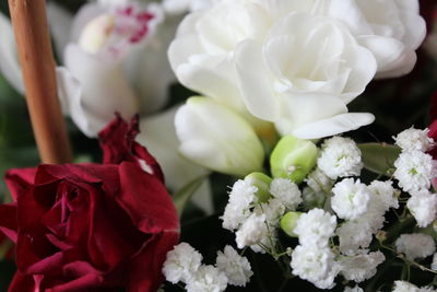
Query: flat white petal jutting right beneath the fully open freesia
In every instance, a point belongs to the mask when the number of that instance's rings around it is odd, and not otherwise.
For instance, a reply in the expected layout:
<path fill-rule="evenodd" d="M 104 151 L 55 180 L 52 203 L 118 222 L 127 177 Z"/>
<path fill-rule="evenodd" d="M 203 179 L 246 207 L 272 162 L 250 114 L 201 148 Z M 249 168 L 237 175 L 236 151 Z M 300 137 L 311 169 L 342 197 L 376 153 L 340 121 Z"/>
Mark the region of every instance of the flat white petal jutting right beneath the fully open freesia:
<path fill-rule="evenodd" d="M 300 139 L 319 139 L 356 130 L 374 122 L 375 116 L 367 113 L 350 113 L 318 120 L 294 130 L 293 135 Z"/>

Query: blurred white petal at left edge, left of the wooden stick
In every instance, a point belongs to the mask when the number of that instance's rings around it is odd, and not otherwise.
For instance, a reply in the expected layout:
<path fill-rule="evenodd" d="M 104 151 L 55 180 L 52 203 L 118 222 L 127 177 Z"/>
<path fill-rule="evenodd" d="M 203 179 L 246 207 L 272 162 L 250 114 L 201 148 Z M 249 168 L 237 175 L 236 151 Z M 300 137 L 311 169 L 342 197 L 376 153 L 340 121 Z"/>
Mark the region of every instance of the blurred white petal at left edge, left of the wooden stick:
<path fill-rule="evenodd" d="M 0 72 L 22 94 L 24 83 L 11 21 L 0 12 Z"/>

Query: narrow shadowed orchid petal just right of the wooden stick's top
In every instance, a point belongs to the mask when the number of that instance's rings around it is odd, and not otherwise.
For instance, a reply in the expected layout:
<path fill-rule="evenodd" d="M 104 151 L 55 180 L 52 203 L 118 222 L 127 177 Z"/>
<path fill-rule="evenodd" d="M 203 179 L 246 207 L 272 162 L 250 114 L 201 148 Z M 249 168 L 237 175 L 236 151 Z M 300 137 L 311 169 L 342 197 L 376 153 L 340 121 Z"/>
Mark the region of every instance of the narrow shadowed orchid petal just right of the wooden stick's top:
<path fill-rule="evenodd" d="M 47 3 L 47 13 L 56 54 L 59 58 L 62 58 L 63 50 L 70 42 L 73 16 L 68 10 L 56 2 Z"/>

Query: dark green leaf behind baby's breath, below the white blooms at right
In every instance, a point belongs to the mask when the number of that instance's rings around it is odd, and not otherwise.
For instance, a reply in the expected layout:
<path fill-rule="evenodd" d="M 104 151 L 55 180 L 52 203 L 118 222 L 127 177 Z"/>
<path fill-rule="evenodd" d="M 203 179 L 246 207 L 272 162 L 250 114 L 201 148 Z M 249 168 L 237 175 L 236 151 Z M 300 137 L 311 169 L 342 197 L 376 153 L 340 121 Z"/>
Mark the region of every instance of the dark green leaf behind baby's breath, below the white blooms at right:
<path fill-rule="evenodd" d="M 394 168 L 394 161 L 399 157 L 401 149 L 387 143 L 358 144 L 363 155 L 364 167 L 380 175 L 390 176 Z"/>

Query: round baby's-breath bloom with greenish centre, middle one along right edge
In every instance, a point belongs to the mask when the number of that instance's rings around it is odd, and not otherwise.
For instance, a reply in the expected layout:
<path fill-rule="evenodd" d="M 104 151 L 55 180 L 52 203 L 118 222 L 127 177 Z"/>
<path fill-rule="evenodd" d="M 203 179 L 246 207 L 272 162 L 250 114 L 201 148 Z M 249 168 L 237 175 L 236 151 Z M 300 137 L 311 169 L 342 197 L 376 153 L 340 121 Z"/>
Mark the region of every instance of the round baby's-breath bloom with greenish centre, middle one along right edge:
<path fill-rule="evenodd" d="M 409 192 L 428 189 L 435 177 L 433 157 L 421 151 L 403 152 L 394 162 L 394 177 L 399 186 Z"/>

